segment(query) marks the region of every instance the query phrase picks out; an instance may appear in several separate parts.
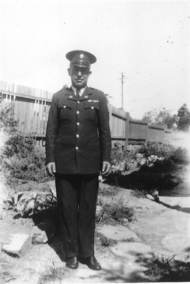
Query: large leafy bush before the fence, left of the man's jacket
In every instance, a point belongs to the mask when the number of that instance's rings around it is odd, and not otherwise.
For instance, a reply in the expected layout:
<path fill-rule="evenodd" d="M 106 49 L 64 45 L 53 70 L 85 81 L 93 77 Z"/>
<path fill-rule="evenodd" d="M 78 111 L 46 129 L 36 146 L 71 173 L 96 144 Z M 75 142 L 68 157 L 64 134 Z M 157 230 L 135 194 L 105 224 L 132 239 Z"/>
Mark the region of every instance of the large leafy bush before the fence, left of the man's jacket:
<path fill-rule="evenodd" d="M 9 176 L 38 182 L 50 180 L 45 169 L 45 148 L 36 145 L 32 133 L 17 132 L 12 136 L 1 149 L 0 161 Z"/>

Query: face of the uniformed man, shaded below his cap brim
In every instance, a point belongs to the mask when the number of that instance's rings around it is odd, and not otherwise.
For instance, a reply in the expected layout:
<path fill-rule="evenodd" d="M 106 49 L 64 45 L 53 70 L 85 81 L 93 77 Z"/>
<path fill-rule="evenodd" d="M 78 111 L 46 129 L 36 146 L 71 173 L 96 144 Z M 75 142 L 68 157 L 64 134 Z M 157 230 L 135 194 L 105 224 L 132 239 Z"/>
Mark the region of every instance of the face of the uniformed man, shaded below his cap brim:
<path fill-rule="evenodd" d="M 67 71 L 71 78 L 72 86 L 77 89 L 82 89 L 87 86 L 88 78 L 92 73 L 90 68 L 76 65 L 71 65 Z"/>

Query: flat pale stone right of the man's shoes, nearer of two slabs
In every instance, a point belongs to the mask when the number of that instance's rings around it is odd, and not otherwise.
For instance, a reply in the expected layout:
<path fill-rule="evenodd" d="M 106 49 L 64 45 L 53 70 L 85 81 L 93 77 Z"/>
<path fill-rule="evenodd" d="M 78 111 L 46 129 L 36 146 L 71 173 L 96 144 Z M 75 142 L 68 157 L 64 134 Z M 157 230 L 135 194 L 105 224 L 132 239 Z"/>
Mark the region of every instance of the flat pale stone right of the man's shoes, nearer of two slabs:
<path fill-rule="evenodd" d="M 130 262 L 146 262 L 153 259 L 153 250 L 140 242 L 122 242 L 115 247 L 110 248 L 111 252 L 124 257 Z"/>

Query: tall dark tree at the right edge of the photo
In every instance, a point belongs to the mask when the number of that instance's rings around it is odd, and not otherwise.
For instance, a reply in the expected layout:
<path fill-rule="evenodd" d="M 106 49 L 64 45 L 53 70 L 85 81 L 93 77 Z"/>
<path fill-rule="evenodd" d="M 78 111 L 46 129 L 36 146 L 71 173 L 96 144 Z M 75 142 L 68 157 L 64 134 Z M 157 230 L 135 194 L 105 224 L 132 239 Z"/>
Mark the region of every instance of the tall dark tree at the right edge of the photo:
<path fill-rule="evenodd" d="M 181 131 L 188 131 L 190 125 L 190 112 L 187 105 L 184 103 L 177 113 L 177 129 Z"/>

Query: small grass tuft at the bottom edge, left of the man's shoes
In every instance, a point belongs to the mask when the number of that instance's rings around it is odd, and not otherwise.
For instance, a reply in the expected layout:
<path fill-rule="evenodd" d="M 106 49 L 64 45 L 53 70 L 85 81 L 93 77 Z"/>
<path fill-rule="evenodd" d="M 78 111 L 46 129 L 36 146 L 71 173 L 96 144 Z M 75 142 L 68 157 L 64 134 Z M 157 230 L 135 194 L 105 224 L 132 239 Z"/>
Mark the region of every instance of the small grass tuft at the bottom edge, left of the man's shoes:
<path fill-rule="evenodd" d="M 50 266 L 45 272 L 41 274 L 37 284 L 44 284 L 55 281 L 59 281 L 61 283 L 61 280 L 64 277 L 68 276 L 69 273 L 66 269 L 63 269 L 63 267 L 56 268 L 53 261 L 52 263 L 53 266 Z"/>

